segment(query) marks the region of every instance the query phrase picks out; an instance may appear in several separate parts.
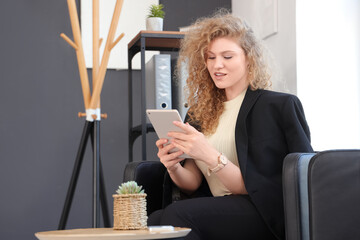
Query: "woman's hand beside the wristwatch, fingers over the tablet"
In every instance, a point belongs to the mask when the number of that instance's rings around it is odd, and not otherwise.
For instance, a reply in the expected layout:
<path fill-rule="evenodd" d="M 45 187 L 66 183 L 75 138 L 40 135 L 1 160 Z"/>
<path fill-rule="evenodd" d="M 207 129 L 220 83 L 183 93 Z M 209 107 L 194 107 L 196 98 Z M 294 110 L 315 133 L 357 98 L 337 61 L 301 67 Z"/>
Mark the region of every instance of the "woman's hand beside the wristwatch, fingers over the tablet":
<path fill-rule="evenodd" d="M 178 121 L 174 121 L 173 123 L 184 131 L 168 133 L 168 136 L 172 138 L 170 141 L 175 147 L 192 158 L 201 160 L 210 166 L 214 164 L 214 159 L 215 162 L 217 162 L 217 156 L 220 153 L 209 144 L 204 134 L 188 123 Z"/>

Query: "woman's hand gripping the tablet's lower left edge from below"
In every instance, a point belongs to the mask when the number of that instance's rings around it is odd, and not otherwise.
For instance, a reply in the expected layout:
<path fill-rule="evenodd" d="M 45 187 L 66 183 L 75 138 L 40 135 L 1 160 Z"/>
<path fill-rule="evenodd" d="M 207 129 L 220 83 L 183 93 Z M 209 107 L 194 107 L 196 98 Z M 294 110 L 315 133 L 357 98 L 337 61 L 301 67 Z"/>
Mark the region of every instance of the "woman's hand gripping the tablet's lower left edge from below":
<path fill-rule="evenodd" d="M 156 146 L 158 147 L 158 154 L 157 156 L 160 158 L 160 162 L 166 167 L 168 172 L 175 172 L 178 167 L 181 167 L 180 162 L 184 160 L 184 158 L 179 158 L 184 152 L 177 151 L 173 153 L 169 153 L 169 151 L 175 146 L 170 143 L 165 145 L 169 142 L 166 138 L 161 138 L 156 141 Z"/>

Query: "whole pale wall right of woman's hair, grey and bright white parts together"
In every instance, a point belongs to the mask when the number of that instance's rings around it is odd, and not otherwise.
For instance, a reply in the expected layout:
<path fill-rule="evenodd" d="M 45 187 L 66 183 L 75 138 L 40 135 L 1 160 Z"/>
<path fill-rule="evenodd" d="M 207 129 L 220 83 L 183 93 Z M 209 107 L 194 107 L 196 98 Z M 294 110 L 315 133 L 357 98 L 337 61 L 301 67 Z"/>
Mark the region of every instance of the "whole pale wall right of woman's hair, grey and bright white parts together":
<path fill-rule="evenodd" d="M 273 89 L 299 96 L 315 150 L 360 148 L 360 1 L 232 0 L 232 10 L 261 33 L 272 2 Z"/>

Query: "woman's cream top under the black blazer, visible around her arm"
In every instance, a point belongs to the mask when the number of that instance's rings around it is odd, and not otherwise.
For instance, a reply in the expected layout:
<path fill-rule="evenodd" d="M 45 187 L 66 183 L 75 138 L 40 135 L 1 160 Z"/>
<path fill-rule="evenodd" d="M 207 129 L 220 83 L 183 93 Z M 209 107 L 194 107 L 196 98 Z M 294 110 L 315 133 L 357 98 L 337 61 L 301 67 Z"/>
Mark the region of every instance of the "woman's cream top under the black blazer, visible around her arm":
<path fill-rule="evenodd" d="M 223 153 L 229 161 L 234 163 L 236 166 L 239 166 L 239 162 L 235 146 L 235 126 L 245 93 L 246 90 L 240 93 L 236 98 L 224 102 L 225 109 L 223 114 L 220 116 L 216 132 L 212 135 L 206 136 L 209 143 L 219 152 Z M 208 166 L 204 162 L 195 160 L 195 163 L 205 176 L 211 193 L 214 196 L 231 194 L 231 192 L 220 182 L 216 174 L 211 174 L 210 176 L 207 175 Z"/>

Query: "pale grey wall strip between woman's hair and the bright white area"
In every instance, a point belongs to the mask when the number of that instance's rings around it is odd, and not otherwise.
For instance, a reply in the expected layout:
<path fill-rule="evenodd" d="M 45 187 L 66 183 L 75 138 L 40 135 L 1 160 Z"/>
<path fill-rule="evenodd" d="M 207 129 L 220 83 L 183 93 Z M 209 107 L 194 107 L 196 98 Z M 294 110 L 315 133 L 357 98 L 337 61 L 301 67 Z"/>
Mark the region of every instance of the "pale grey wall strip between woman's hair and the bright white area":
<path fill-rule="evenodd" d="M 232 12 L 245 19 L 272 54 L 274 65 L 273 90 L 296 94 L 295 0 L 232 0 Z M 275 6 L 276 13 L 269 8 Z M 276 33 L 269 33 L 269 22 L 275 14 Z M 271 26 L 271 25 L 270 25 Z"/>

